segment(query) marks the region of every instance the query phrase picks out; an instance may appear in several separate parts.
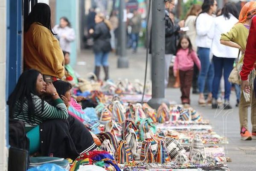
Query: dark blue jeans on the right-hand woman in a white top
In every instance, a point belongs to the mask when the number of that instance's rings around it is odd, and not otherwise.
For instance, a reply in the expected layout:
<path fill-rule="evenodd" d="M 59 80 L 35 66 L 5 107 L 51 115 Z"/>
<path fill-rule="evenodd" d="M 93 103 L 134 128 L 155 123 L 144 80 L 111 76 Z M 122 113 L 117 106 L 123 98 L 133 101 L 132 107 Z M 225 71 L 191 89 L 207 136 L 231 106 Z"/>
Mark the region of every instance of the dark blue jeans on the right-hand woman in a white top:
<path fill-rule="evenodd" d="M 222 77 L 222 73 L 224 75 L 224 82 L 225 82 L 225 100 L 230 99 L 230 91 L 231 91 L 231 83 L 228 81 L 228 77 L 230 72 L 233 69 L 233 64 L 235 58 L 219 58 L 213 56 L 212 58 L 214 64 L 214 78 L 212 83 L 212 97 L 218 99 L 218 90 L 220 87 L 220 81 Z M 224 72 L 223 72 L 224 70 Z"/>

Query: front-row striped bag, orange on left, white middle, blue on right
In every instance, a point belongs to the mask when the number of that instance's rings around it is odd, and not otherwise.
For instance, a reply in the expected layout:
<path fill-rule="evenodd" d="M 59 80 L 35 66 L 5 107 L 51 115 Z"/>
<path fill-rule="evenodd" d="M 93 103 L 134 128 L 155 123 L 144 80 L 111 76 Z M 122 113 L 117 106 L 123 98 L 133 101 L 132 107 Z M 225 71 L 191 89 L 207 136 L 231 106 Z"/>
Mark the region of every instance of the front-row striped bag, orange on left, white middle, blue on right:
<path fill-rule="evenodd" d="M 163 164 L 166 161 L 169 161 L 169 157 L 166 152 L 166 147 L 164 145 L 164 141 L 162 139 L 160 139 L 157 142 L 157 150 L 155 153 L 155 162 Z"/>

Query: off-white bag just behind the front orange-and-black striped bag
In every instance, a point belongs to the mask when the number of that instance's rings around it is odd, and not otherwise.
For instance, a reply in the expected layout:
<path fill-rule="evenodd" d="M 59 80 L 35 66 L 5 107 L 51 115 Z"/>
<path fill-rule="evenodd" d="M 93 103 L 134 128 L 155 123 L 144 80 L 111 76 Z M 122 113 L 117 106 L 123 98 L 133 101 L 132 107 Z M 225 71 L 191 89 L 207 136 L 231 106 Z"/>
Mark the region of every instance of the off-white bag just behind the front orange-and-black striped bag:
<path fill-rule="evenodd" d="M 136 157 L 139 142 L 138 142 L 137 135 L 136 135 L 134 129 L 132 129 L 132 128 L 129 129 L 129 133 L 126 134 L 126 136 L 125 136 L 125 141 L 127 142 L 127 144 L 129 145 L 129 147 L 131 149 L 131 154 Z"/>

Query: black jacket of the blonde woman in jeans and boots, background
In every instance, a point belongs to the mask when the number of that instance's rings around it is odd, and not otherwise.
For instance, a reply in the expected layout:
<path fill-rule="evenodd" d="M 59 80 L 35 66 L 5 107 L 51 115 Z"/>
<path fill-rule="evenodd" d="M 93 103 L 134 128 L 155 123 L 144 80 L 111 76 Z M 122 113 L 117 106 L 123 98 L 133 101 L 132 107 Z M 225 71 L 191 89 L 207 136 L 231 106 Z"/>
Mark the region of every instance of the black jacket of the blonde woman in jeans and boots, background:
<path fill-rule="evenodd" d="M 97 23 L 93 32 L 93 52 L 110 52 L 110 31 L 108 26 L 102 21 Z"/>

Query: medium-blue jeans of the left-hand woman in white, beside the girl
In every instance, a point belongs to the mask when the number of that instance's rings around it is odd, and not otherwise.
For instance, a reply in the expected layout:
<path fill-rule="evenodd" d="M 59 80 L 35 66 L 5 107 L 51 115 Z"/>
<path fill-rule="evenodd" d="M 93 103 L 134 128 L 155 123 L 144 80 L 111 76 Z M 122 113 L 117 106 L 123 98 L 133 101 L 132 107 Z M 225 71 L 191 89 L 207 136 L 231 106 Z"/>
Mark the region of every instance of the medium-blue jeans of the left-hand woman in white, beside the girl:
<path fill-rule="evenodd" d="M 201 61 L 201 71 L 198 76 L 199 93 L 204 93 L 204 86 L 207 82 L 208 92 L 212 92 L 212 81 L 214 77 L 213 63 L 209 59 L 210 49 L 198 47 L 198 56 Z"/>

